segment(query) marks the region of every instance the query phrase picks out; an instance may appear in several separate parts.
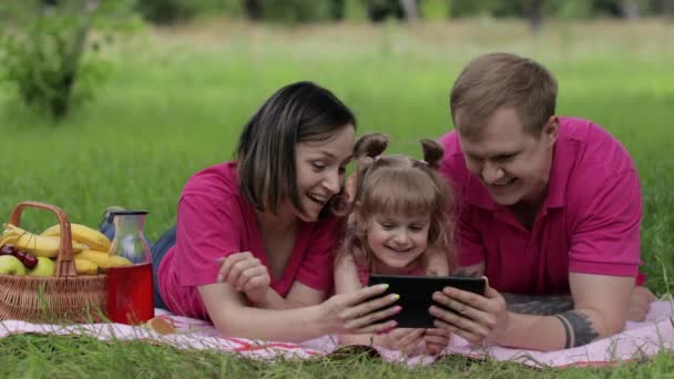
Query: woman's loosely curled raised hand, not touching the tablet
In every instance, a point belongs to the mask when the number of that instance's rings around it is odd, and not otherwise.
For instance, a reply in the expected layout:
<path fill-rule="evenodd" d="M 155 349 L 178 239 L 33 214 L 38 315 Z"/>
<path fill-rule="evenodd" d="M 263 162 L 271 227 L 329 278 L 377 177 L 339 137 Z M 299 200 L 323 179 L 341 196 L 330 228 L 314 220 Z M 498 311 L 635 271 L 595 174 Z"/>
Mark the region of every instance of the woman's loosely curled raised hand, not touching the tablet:
<path fill-rule="evenodd" d="M 269 270 L 249 252 L 234 253 L 216 260 L 221 264 L 217 283 L 227 283 L 246 295 L 253 304 L 264 300 L 272 278 Z"/>

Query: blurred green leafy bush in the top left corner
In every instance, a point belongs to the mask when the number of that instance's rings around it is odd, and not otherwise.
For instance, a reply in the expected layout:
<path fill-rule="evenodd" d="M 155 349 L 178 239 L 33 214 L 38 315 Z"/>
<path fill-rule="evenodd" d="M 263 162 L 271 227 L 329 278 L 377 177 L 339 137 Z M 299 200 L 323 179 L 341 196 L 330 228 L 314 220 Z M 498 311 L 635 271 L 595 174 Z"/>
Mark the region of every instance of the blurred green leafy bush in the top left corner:
<path fill-rule="evenodd" d="M 0 81 L 13 84 L 27 105 L 64 117 L 73 105 L 91 99 L 108 72 L 99 52 L 112 38 L 92 38 L 92 28 L 116 27 L 111 18 L 124 14 L 125 3 L 27 1 L 23 7 L 4 8 L 17 22 L 0 28 Z"/>

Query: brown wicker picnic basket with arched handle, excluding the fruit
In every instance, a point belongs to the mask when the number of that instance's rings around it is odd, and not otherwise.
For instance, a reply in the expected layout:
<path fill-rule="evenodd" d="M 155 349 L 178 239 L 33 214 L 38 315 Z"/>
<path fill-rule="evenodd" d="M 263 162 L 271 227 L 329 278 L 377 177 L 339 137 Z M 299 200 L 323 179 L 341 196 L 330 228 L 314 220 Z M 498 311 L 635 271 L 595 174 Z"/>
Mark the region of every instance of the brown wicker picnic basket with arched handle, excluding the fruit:
<path fill-rule="evenodd" d="M 54 276 L 0 275 L 0 320 L 30 322 L 91 322 L 105 315 L 105 275 L 78 275 L 73 260 L 68 215 L 45 203 L 22 202 L 9 222 L 19 226 L 27 207 L 55 213 L 61 225 L 61 246 Z"/>

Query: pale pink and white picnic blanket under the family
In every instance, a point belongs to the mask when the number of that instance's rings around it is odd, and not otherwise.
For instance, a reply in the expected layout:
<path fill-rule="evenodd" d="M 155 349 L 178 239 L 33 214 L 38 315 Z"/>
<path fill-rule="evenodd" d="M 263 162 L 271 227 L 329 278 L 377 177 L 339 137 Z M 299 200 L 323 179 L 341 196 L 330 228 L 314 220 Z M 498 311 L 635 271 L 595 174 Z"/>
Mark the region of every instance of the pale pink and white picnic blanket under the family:
<path fill-rule="evenodd" d="M 278 357 L 303 359 L 333 354 L 337 348 L 335 336 L 324 336 L 300 344 L 252 340 L 246 338 L 222 338 L 215 327 L 203 320 L 175 316 L 156 309 L 156 317 L 174 327 L 161 334 L 147 326 L 122 324 L 48 325 L 18 320 L 0 322 L 0 338 L 14 334 L 37 332 L 54 335 L 84 335 L 101 340 L 144 339 L 183 349 L 213 349 L 254 359 Z M 551 352 L 512 349 L 499 346 L 473 347 L 460 337 L 452 336 L 447 349 L 440 355 L 461 355 L 477 359 L 510 360 L 537 367 L 603 366 L 625 360 L 639 360 L 661 351 L 674 351 L 674 301 L 663 299 L 652 304 L 643 322 L 627 321 L 625 330 L 592 344 Z M 398 361 L 409 366 L 429 365 L 438 357 L 405 357 L 398 351 L 377 348 L 386 361 Z"/>

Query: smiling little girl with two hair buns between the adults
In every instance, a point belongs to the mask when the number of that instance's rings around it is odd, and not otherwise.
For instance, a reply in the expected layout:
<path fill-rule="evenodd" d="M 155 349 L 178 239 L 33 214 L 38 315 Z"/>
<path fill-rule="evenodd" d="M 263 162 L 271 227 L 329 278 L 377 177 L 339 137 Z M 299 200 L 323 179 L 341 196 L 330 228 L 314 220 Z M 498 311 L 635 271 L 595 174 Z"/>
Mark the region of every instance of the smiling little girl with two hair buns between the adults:
<path fill-rule="evenodd" d="M 354 294 L 370 274 L 449 275 L 456 266 L 450 221 L 453 198 L 437 171 L 442 147 L 421 141 L 423 160 L 380 156 L 382 134 L 361 137 L 355 147 L 358 172 L 353 213 L 335 263 L 337 294 Z M 388 334 L 343 335 L 343 345 L 377 345 L 407 355 L 440 352 L 449 334 L 440 329 L 394 329 Z"/>

